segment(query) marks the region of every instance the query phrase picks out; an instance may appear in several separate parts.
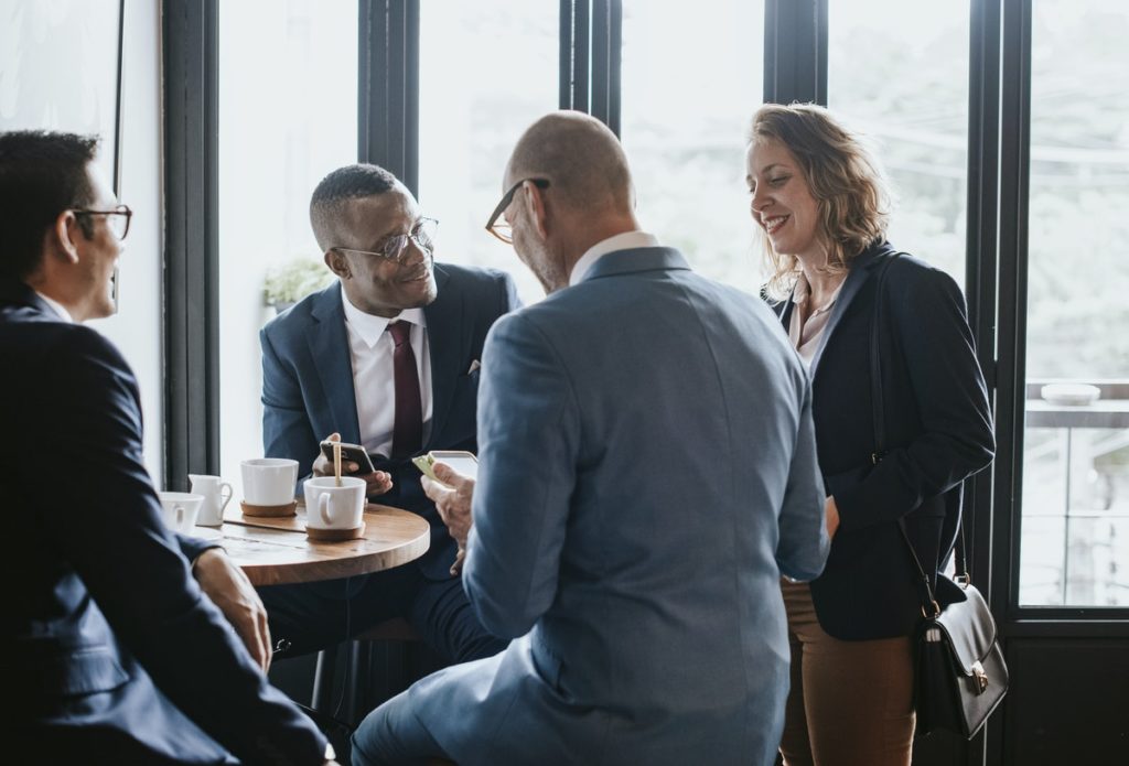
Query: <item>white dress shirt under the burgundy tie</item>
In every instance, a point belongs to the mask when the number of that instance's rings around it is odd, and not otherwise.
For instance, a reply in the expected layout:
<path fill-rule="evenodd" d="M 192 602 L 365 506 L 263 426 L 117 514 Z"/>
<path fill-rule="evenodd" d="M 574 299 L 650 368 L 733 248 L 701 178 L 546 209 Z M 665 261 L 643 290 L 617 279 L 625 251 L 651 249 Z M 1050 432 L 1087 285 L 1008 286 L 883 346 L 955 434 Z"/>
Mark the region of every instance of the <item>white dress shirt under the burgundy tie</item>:
<path fill-rule="evenodd" d="M 376 317 L 350 303 L 343 288 L 341 305 L 349 332 L 349 359 L 352 362 L 361 446 L 373 454 L 392 455 L 392 430 L 396 420 L 396 384 L 392 366 L 395 343 L 392 333 L 385 332 L 392 322 L 406 322 L 412 326 L 410 337 L 420 378 L 426 444 L 431 433 L 431 356 L 423 309 L 408 309 L 395 319 Z"/>

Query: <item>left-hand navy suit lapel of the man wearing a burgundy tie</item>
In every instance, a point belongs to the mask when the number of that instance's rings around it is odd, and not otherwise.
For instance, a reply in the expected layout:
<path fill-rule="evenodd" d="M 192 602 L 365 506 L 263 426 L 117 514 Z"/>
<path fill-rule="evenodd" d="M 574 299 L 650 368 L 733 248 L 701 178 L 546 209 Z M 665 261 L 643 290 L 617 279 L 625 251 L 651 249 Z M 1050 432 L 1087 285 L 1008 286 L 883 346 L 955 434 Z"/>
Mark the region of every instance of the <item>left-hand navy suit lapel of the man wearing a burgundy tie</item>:
<path fill-rule="evenodd" d="M 322 292 L 310 311 L 314 324 L 306 332 L 309 355 L 317 368 L 325 391 L 325 405 L 341 440 L 360 443 L 357 421 L 357 394 L 353 389 L 352 362 L 349 359 L 349 333 L 341 306 L 341 287 L 331 285 Z M 329 434 L 318 434 L 324 438 Z"/>

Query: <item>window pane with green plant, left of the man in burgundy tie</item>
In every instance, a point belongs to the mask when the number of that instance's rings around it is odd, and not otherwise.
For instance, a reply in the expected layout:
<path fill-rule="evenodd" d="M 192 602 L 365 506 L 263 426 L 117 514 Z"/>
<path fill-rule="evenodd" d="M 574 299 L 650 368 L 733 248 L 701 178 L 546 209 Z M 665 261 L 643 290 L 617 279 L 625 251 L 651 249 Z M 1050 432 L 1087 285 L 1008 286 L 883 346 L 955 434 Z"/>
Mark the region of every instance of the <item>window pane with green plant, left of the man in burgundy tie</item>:
<path fill-rule="evenodd" d="M 274 280 L 289 302 L 332 276 L 307 210 L 357 160 L 357 2 L 222 2 L 219 26 L 220 456 L 238 486 L 239 460 L 263 454 L 265 280 L 290 267 Z"/>

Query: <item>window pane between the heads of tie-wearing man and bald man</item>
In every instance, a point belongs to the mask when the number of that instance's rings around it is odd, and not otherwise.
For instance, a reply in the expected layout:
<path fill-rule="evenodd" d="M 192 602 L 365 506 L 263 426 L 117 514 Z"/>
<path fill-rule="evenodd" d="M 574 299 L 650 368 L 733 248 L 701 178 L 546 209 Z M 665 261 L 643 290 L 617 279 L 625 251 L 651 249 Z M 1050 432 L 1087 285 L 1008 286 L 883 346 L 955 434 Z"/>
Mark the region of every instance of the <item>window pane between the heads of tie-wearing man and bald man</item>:
<path fill-rule="evenodd" d="M 559 12 L 552 0 L 420 3 L 419 202 L 440 223 L 436 259 L 508 271 L 526 303 L 541 285 L 484 227 L 518 137 L 558 107 Z"/>

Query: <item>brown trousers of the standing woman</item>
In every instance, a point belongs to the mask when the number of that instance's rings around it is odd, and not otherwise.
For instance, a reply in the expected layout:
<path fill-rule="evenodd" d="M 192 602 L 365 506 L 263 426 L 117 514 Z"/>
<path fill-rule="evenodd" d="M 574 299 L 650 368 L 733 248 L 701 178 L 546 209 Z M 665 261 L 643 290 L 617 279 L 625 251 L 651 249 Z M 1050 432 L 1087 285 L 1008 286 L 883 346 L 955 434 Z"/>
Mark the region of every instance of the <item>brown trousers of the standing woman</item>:
<path fill-rule="evenodd" d="M 820 627 L 806 583 L 781 581 L 791 690 L 780 752 L 787 766 L 909 766 L 913 648 L 909 637 L 840 641 Z"/>

